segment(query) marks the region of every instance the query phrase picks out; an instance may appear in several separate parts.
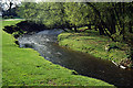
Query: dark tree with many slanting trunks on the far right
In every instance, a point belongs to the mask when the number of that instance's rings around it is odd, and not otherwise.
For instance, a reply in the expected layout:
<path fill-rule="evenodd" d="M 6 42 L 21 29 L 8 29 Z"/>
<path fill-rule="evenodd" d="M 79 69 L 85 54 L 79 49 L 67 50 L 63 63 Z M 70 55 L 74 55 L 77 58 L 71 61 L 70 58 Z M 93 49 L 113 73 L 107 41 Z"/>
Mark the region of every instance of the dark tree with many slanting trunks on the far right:
<path fill-rule="evenodd" d="M 124 41 L 125 33 L 129 32 L 125 24 L 131 24 L 131 3 L 91 3 L 88 7 L 93 9 L 100 34 L 110 36 L 113 41 Z M 130 4 L 130 6 L 129 6 Z M 131 13 L 129 13 L 129 11 Z M 131 30 L 131 25 L 130 25 Z"/>

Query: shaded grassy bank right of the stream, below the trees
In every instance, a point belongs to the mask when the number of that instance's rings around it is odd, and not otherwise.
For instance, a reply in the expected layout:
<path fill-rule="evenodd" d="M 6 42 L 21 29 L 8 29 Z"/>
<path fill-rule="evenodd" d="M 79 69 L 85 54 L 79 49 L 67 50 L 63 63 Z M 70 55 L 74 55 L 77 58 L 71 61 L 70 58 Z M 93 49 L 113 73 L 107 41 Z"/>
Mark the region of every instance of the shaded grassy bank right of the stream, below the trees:
<path fill-rule="evenodd" d="M 113 61 L 115 65 L 120 65 L 122 61 L 127 58 L 127 44 L 113 42 L 94 30 L 81 33 L 64 32 L 58 36 L 58 41 L 61 46 L 89 53 L 100 59 Z"/>

